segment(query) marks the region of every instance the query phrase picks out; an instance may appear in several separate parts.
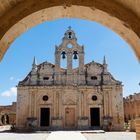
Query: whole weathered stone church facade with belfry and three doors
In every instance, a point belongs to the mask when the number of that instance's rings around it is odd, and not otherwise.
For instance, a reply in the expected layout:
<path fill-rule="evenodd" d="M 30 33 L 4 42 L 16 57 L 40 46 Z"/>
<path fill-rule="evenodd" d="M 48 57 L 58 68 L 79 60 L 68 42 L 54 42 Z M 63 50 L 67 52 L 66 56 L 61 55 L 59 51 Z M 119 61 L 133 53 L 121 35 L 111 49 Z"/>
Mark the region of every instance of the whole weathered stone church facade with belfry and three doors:
<path fill-rule="evenodd" d="M 61 60 L 67 62 L 61 67 Z M 73 60 L 78 67 L 73 68 Z M 103 64 L 84 64 L 84 46 L 77 43 L 69 28 L 55 48 L 55 65 L 34 59 L 32 70 L 17 86 L 19 128 L 35 120 L 36 128 L 121 130 L 124 123 L 122 83 L 115 80 Z"/>

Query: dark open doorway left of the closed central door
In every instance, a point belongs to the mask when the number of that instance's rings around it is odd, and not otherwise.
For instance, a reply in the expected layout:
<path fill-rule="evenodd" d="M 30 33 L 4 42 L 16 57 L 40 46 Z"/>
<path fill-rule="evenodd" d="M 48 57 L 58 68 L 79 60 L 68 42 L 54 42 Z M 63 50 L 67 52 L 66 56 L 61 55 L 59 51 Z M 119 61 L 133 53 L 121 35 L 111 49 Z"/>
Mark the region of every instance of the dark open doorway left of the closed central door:
<path fill-rule="evenodd" d="M 40 111 L 40 126 L 49 126 L 50 125 L 50 108 L 41 108 Z"/>

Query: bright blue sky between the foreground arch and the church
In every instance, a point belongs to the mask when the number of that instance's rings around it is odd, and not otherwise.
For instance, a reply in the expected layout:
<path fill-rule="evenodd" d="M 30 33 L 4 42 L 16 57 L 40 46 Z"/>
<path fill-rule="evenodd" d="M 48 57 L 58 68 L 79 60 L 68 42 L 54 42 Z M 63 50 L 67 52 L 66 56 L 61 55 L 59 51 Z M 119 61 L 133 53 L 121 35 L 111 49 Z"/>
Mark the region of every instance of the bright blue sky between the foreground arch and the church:
<path fill-rule="evenodd" d="M 140 92 L 140 65 L 129 44 L 99 23 L 66 18 L 37 25 L 12 43 L 0 63 L 0 105 L 16 101 L 16 85 L 30 72 L 34 56 L 38 64 L 54 63 L 55 45 L 61 43 L 68 26 L 75 31 L 78 43 L 85 46 L 85 63 L 102 63 L 106 56 L 108 70 L 123 82 L 123 95 Z"/>

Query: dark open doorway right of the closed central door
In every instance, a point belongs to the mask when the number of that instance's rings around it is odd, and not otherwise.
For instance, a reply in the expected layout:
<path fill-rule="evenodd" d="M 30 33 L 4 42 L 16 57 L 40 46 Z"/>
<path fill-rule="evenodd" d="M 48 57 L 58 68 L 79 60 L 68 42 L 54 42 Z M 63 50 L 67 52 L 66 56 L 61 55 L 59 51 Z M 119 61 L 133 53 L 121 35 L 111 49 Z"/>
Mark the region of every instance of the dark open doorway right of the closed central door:
<path fill-rule="evenodd" d="M 100 109 L 90 108 L 91 126 L 100 126 Z"/>

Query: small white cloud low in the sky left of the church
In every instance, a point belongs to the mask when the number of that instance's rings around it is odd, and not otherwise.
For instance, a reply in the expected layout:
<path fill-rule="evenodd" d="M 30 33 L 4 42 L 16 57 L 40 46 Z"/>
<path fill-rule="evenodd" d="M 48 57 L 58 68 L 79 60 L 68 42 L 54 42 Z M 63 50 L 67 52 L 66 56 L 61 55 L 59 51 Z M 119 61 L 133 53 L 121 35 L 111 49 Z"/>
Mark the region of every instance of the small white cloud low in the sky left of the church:
<path fill-rule="evenodd" d="M 17 96 L 17 88 L 12 87 L 9 90 L 6 90 L 6 91 L 2 92 L 1 96 L 3 96 L 3 97 Z"/>

